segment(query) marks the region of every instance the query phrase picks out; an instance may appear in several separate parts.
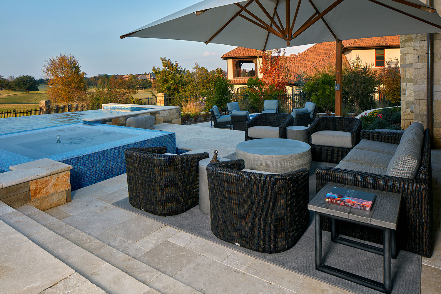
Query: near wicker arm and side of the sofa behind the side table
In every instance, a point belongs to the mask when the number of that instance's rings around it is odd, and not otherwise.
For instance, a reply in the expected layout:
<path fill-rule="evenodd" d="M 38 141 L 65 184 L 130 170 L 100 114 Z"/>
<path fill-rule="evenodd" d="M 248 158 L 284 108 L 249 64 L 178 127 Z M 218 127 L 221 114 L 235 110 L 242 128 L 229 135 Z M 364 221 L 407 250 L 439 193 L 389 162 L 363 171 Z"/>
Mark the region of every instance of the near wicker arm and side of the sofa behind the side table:
<path fill-rule="evenodd" d="M 378 138 L 385 137 L 381 134 Z M 398 248 L 422 255 L 423 257 L 430 257 L 432 254 L 433 202 L 430 133 L 428 129 L 424 132 L 422 162 L 415 179 L 321 166 L 316 171 L 317 192 L 327 182 L 403 195 L 396 244 Z M 323 228 L 329 231 L 329 220 L 324 219 Z M 359 227 L 349 223 L 339 223 L 338 228 L 340 233 L 344 235 L 380 244 L 383 242 L 382 233 L 374 229 Z"/>

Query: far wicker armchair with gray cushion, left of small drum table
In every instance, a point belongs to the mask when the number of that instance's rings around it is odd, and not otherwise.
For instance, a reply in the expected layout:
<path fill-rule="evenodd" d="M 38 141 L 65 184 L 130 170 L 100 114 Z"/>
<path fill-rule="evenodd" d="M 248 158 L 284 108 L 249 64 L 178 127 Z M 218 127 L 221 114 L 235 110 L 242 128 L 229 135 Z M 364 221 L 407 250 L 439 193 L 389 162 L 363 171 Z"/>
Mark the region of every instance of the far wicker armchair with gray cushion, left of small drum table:
<path fill-rule="evenodd" d="M 289 113 L 261 113 L 245 123 L 245 141 L 262 138 L 286 139 L 286 127 L 294 124 Z"/>

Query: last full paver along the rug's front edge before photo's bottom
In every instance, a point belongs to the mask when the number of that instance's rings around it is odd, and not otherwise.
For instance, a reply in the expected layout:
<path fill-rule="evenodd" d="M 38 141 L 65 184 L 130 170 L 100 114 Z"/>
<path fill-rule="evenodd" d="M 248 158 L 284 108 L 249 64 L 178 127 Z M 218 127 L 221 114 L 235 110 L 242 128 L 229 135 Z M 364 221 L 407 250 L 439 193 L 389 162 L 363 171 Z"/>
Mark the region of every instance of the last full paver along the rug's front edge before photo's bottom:
<path fill-rule="evenodd" d="M 258 259 L 254 260 L 245 272 L 294 292 L 299 289 L 300 284 L 305 279 L 304 275 L 299 275 Z"/>

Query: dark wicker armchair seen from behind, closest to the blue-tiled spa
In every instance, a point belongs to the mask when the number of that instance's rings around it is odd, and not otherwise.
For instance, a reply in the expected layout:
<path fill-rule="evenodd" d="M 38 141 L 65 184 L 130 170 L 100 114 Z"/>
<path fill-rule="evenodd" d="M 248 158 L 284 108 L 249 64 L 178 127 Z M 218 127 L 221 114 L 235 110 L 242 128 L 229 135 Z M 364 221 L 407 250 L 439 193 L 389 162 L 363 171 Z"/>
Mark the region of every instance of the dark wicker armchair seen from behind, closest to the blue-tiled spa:
<path fill-rule="evenodd" d="M 157 216 L 172 216 L 199 203 L 199 160 L 208 153 L 165 155 L 167 148 L 124 150 L 129 202 Z"/>

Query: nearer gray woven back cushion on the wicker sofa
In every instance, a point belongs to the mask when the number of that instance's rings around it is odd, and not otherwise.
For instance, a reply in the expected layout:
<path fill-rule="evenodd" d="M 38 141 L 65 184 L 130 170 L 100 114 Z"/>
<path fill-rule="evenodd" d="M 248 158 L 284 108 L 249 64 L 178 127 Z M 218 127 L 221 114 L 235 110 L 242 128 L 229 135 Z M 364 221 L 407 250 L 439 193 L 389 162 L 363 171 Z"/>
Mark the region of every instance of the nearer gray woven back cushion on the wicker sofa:
<path fill-rule="evenodd" d="M 400 142 L 389 163 L 386 175 L 415 178 L 421 164 L 421 146 L 418 141 L 408 139 Z"/>

